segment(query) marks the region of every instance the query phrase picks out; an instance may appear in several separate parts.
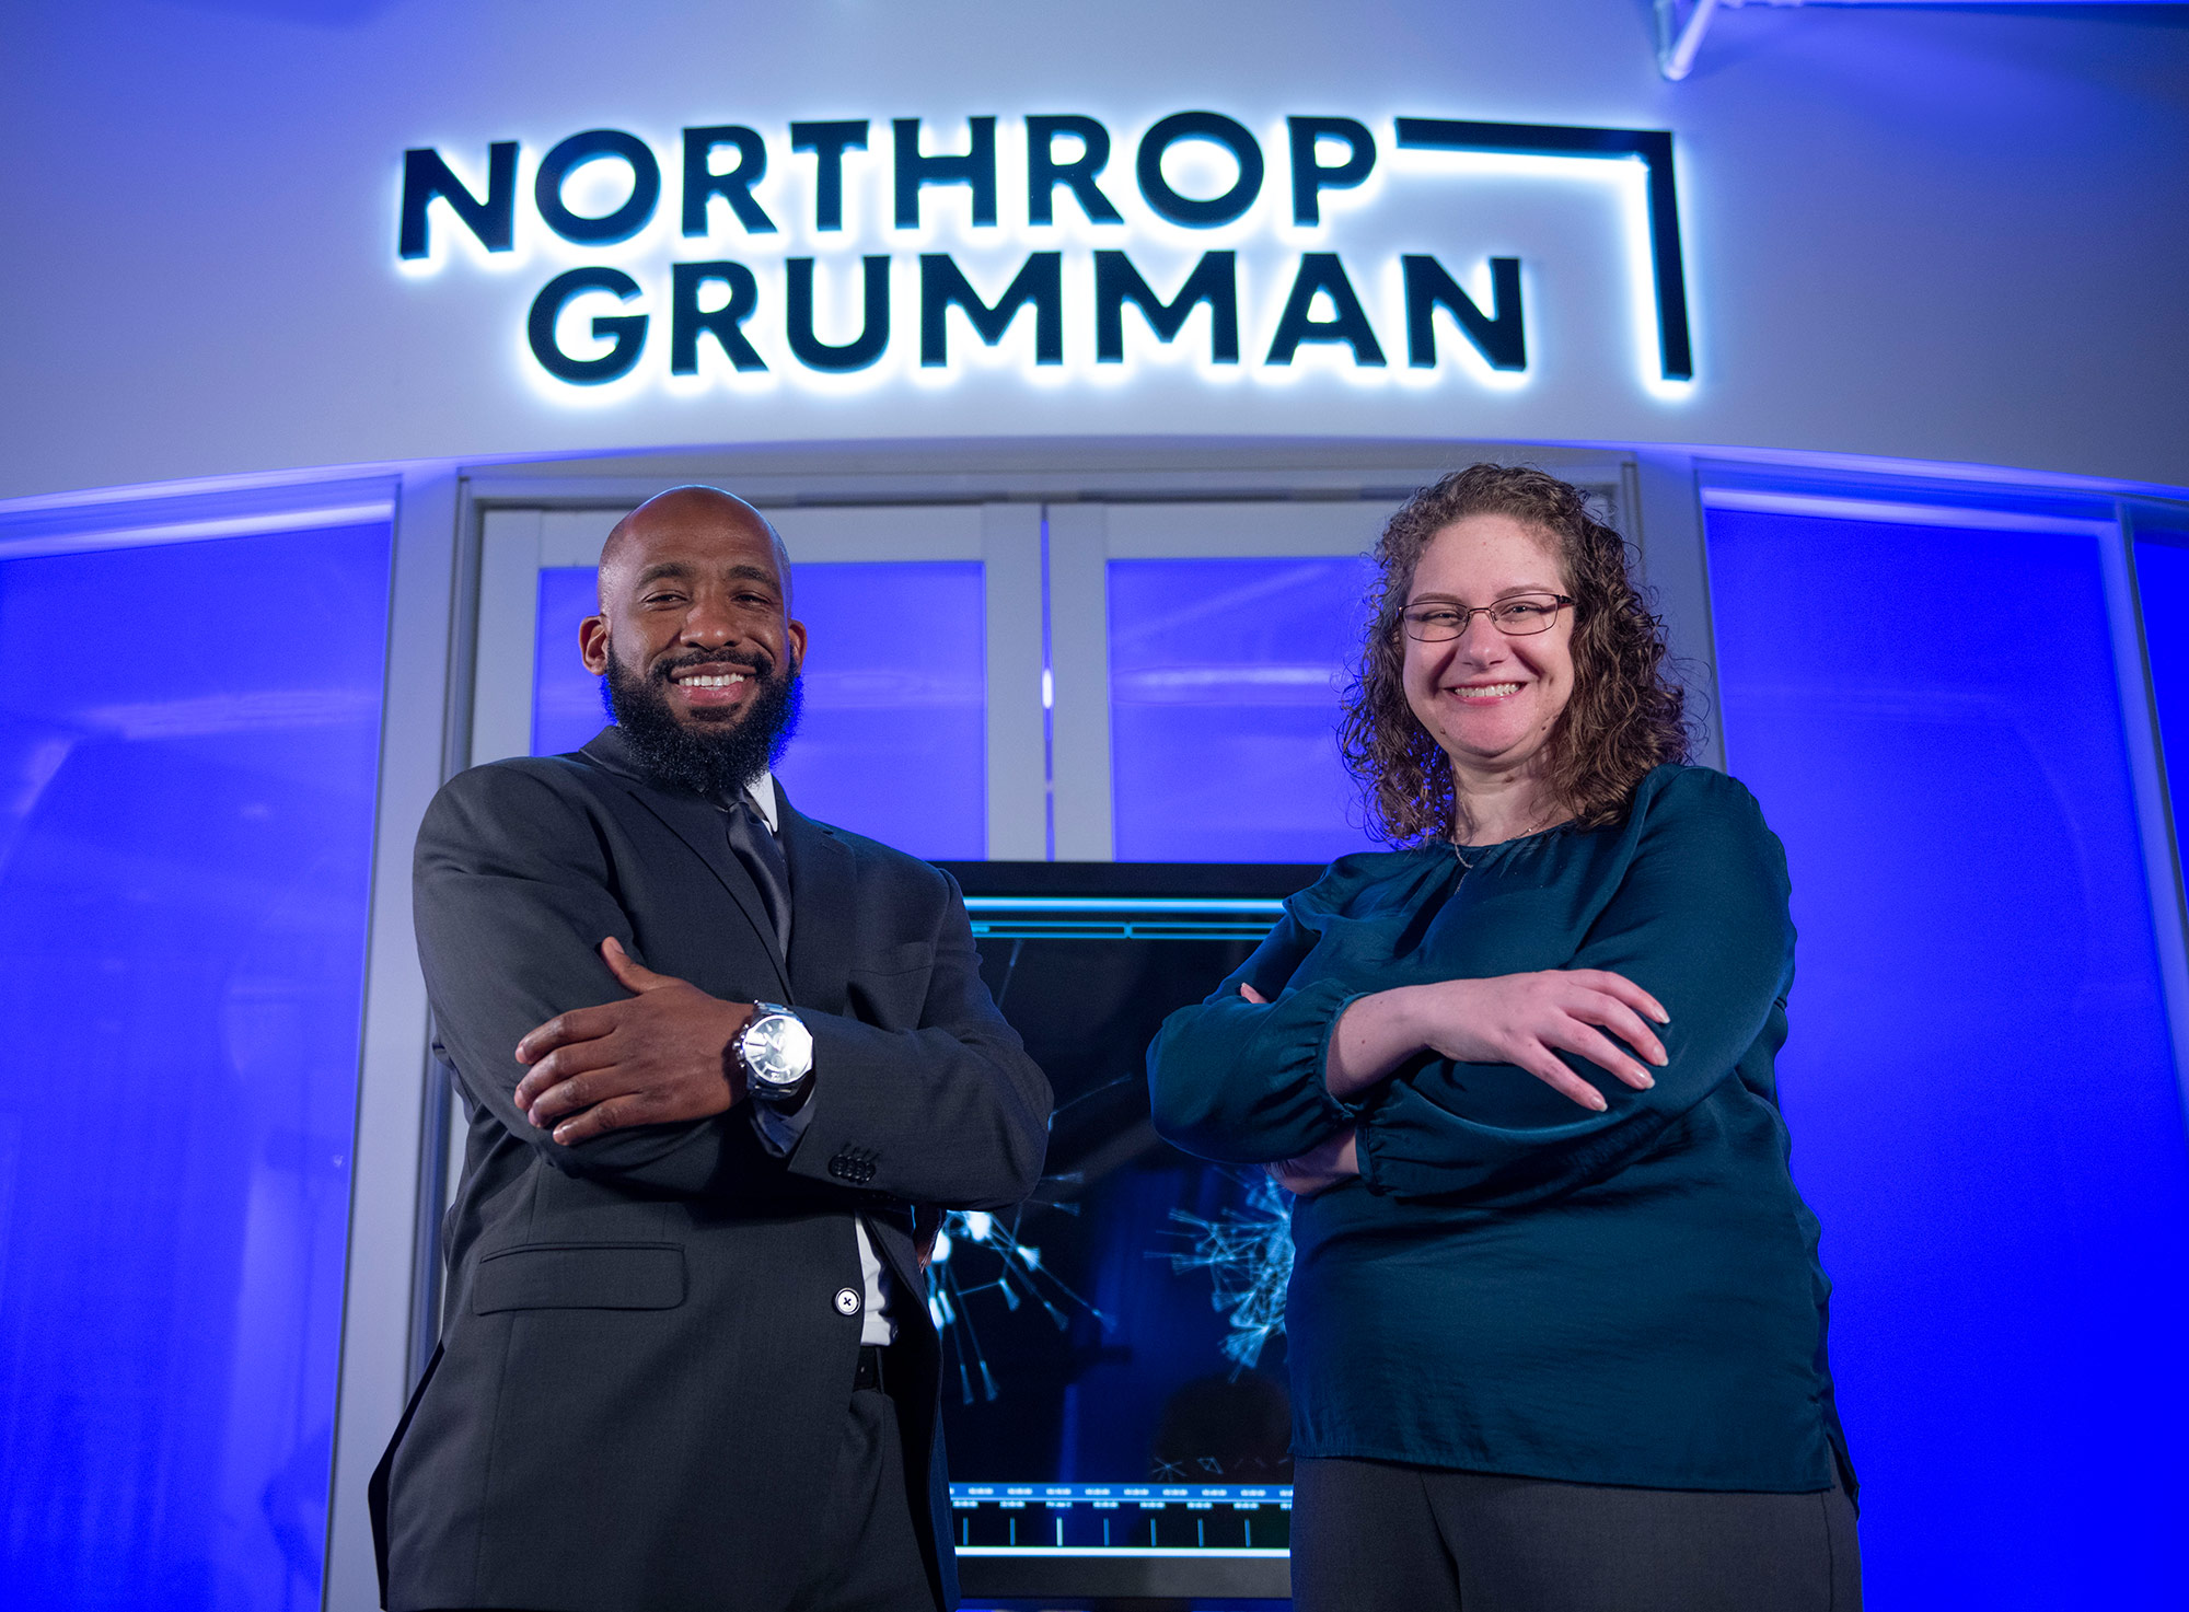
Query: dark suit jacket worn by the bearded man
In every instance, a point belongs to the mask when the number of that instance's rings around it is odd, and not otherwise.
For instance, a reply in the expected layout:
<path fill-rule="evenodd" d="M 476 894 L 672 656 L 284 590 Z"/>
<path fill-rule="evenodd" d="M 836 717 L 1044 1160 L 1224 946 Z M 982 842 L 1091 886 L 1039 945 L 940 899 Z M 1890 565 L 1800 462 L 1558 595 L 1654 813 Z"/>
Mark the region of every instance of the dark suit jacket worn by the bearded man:
<path fill-rule="evenodd" d="M 418 953 L 471 1113 L 442 1349 L 374 1478 L 383 1603 L 530 1612 L 788 1605 L 845 1428 L 862 1290 L 895 1277 L 913 1518 L 957 1601 L 939 1347 L 913 1207 L 1003 1207 L 1042 1167 L 1049 1082 L 981 983 L 948 874 L 790 810 L 788 962 L 722 815 L 617 729 L 495 762 L 418 832 Z M 574 1148 L 517 1113 L 519 1038 L 622 1001 L 595 951 L 814 1034 L 812 1119 L 773 1159 L 740 1104 Z"/>

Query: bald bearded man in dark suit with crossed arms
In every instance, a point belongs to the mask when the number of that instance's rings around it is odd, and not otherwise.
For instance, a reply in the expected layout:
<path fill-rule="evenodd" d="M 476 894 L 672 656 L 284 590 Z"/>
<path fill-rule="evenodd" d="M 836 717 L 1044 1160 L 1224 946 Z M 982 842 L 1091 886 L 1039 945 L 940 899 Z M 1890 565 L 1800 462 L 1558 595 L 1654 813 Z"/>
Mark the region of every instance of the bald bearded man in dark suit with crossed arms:
<path fill-rule="evenodd" d="M 950 1608 L 917 1235 L 1031 1191 L 1049 1084 L 948 874 L 773 782 L 806 629 L 753 508 L 626 517 L 580 648 L 617 725 L 449 780 L 418 834 L 471 1135 L 383 1603 Z"/>

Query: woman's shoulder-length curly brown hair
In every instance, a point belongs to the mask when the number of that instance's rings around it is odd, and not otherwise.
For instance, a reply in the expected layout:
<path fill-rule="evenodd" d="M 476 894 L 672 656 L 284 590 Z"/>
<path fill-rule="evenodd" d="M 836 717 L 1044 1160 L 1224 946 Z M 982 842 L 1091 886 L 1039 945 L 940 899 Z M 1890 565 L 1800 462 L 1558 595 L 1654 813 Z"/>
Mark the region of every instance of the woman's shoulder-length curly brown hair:
<path fill-rule="evenodd" d="M 1550 729 L 1550 788 L 1578 828 L 1626 815 L 1642 775 L 1688 760 L 1679 686 L 1666 677 L 1664 624 L 1629 567 L 1626 539 L 1589 517 L 1580 488 L 1517 464 L 1469 464 L 1425 486 L 1377 539 L 1379 580 L 1337 742 L 1368 797 L 1368 830 L 1394 845 L 1462 832 L 1451 758 L 1405 703 L 1399 613 L 1429 541 L 1469 515 L 1510 515 L 1550 539 L 1574 598 L 1574 692 Z"/>

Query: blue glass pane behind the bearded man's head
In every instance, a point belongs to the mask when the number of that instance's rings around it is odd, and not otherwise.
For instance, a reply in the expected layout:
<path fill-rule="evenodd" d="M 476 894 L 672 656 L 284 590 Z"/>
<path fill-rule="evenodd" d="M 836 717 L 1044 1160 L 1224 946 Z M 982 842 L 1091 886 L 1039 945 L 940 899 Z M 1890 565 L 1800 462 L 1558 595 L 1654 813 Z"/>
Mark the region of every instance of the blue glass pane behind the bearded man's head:
<path fill-rule="evenodd" d="M 915 856 L 987 854 L 985 596 L 976 561 L 792 565 L 806 716 L 777 775 L 792 804 Z M 541 572 L 532 753 L 609 721 L 578 661 L 593 567 Z"/>

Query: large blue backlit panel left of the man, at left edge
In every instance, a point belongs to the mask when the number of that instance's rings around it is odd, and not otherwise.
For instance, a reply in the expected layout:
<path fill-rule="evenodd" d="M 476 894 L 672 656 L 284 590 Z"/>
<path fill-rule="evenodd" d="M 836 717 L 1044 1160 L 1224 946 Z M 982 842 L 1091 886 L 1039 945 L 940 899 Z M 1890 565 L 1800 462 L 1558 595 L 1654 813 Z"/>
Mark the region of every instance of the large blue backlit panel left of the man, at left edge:
<path fill-rule="evenodd" d="M 320 1605 L 385 633 L 383 523 L 0 561 L 11 1608 Z"/>

